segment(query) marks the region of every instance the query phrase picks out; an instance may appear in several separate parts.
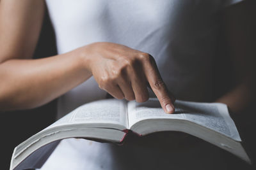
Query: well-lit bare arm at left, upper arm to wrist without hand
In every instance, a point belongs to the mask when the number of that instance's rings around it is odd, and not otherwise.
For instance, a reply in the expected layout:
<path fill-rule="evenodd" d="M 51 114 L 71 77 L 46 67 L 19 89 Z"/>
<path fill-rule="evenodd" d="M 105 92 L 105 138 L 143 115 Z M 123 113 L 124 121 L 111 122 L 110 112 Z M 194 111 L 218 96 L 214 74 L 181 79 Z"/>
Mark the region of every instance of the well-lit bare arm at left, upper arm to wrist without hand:
<path fill-rule="evenodd" d="M 44 16 L 42 0 L 0 4 L 0 109 L 34 108 L 91 76 L 76 52 L 32 60 Z"/>

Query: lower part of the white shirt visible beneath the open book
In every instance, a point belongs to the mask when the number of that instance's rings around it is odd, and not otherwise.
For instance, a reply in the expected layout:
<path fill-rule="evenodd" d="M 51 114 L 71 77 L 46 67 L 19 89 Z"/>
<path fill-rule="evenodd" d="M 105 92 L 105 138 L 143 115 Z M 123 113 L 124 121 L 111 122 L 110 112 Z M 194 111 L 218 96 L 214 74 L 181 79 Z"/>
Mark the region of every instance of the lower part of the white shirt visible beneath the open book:
<path fill-rule="evenodd" d="M 171 140 L 169 140 L 171 141 Z M 61 141 L 41 170 L 151 170 L 151 169 L 223 169 L 215 146 L 202 141 L 198 144 L 132 145 L 116 146 L 85 139 Z M 164 143 L 164 145 L 163 145 Z M 189 145 L 188 145 L 189 144 Z"/>

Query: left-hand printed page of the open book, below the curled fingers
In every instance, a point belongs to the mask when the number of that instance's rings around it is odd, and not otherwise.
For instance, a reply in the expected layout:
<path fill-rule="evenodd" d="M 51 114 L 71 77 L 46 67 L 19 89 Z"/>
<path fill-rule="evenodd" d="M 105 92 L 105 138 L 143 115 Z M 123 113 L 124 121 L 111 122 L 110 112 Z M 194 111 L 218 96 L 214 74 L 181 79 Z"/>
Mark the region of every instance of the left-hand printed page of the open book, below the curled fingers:
<path fill-rule="evenodd" d="M 128 127 L 127 101 L 104 99 L 84 104 L 60 118 L 52 126 L 61 124 L 118 124 Z"/>

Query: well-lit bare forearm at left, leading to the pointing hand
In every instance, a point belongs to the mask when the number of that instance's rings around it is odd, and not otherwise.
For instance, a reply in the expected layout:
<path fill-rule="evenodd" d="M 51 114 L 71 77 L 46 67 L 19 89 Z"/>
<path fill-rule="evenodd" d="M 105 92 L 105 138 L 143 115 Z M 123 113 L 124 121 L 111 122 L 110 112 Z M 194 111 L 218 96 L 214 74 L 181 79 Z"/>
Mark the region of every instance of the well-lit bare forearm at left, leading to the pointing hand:
<path fill-rule="evenodd" d="M 90 78 L 77 52 L 0 64 L 0 110 L 34 108 Z"/>

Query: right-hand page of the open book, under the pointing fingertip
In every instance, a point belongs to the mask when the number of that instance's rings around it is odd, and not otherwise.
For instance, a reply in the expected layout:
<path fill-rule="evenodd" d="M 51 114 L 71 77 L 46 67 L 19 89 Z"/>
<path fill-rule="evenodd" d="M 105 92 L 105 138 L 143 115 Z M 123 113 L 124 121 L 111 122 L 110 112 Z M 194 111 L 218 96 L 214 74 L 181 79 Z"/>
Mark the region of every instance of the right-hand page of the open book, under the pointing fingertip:
<path fill-rule="evenodd" d="M 230 118 L 225 104 L 175 101 L 175 113 L 167 114 L 156 98 L 145 103 L 128 103 L 129 127 L 147 119 L 179 119 L 195 122 L 207 129 L 219 132 L 229 138 L 241 141 L 236 125 Z"/>

